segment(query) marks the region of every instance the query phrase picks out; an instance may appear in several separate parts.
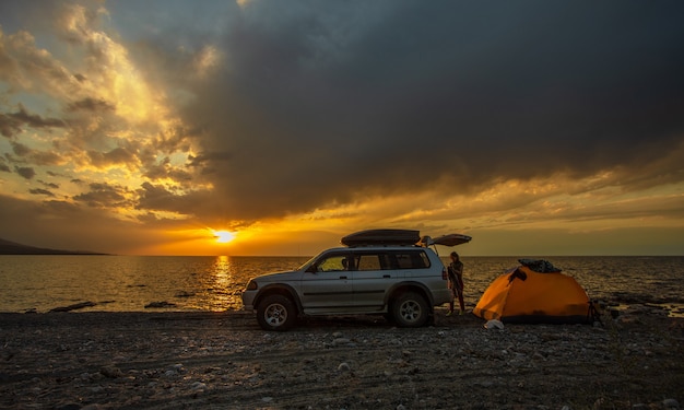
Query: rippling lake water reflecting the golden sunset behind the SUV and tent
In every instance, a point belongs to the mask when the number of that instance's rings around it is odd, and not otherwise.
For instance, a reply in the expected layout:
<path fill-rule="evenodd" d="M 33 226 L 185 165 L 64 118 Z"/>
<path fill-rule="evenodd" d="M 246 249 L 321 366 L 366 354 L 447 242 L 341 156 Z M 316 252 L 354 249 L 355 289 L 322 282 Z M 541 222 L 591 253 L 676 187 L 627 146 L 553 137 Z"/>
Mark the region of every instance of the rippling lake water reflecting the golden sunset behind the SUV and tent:
<path fill-rule="evenodd" d="M 0 256 L 0 312 L 48 312 L 82 302 L 79 312 L 234 311 L 249 278 L 288 270 L 306 257 Z M 448 263 L 448 258 L 443 258 Z M 574 277 L 590 298 L 684 306 L 684 257 L 544 257 Z M 467 305 L 492 280 L 518 266 L 514 257 L 463 257 Z M 160 311 L 156 308 L 155 311 Z"/>

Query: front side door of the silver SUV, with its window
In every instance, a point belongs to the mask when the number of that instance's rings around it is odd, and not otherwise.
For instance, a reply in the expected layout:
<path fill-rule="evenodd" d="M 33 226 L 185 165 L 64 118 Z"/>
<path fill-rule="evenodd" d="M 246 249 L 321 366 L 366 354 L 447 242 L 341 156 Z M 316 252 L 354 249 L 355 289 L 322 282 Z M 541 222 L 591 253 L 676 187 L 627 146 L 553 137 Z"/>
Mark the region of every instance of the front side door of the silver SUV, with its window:
<path fill-rule="evenodd" d="M 349 253 L 321 255 L 302 276 L 302 306 L 307 314 L 342 312 L 353 304 Z"/>

